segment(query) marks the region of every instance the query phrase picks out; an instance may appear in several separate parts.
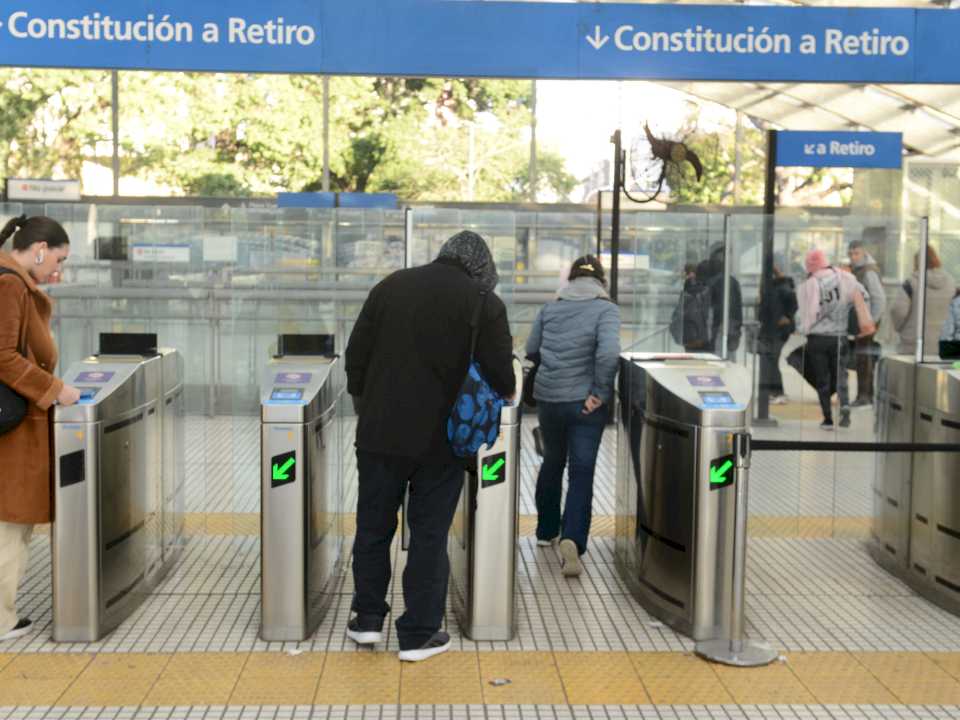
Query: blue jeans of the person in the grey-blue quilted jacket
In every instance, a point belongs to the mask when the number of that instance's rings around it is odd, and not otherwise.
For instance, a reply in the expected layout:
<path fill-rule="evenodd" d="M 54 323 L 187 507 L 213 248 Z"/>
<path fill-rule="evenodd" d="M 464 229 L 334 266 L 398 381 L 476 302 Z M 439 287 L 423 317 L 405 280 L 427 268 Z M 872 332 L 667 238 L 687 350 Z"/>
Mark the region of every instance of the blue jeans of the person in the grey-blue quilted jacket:
<path fill-rule="evenodd" d="M 537 539 L 558 535 L 587 551 L 593 515 L 593 473 L 600 438 L 607 423 L 607 406 L 583 414 L 583 402 L 537 402 L 544 454 L 537 476 Z M 563 470 L 570 463 L 567 502 L 560 513 Z"/>

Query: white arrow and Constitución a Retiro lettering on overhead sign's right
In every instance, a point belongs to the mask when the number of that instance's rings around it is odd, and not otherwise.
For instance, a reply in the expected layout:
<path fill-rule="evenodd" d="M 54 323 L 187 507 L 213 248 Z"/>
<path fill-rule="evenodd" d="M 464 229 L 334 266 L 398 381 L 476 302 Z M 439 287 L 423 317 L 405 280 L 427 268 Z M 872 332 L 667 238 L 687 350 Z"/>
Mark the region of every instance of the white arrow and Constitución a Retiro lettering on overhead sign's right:
<path fill-rule="evenodd" d="M 587 40 L 596 49 L 606 44 L 598 26 Z M 804 34 L 799 38 L 771 32 L 769 27 L 746 27 L 742 32 L 717 31 L 702 25 L 674 32 L 638 30 L 621 25 L 613 33 L 613 44 L 624 52 L 705 53 L 733 55 L 866 55 L 903 57 L 910 52 L 910 39 L 903 35 L 883 34 L 878 28 L 851 33 L 825 28 L 822 37 Z"/>

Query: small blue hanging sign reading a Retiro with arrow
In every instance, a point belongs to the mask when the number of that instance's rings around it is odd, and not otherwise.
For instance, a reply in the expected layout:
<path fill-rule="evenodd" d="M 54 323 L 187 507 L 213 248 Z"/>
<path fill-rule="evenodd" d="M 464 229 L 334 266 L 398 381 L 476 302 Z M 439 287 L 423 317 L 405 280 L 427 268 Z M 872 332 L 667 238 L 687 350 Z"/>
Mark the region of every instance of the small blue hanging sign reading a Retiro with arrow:
<path fill-rule="evenodd" d="M 898 170 L 903 135 L 869 132 L 777 133 L 780 167 L 856 167 Z"/>

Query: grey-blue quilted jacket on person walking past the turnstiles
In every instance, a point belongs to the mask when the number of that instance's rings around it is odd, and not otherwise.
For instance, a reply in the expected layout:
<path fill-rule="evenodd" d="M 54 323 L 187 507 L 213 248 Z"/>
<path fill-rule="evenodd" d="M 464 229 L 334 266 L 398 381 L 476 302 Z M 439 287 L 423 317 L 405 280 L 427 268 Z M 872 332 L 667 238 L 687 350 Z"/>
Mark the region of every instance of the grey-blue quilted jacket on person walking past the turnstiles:
<path fill-rule="evenodd" d="M 613 400 L 620 356 L 620 308 L 603 285 L 582 277 L 540 310 L 527 354 L 540 353 L 533 396 L 543 402 L 580 402 L 596 395 Z"/>

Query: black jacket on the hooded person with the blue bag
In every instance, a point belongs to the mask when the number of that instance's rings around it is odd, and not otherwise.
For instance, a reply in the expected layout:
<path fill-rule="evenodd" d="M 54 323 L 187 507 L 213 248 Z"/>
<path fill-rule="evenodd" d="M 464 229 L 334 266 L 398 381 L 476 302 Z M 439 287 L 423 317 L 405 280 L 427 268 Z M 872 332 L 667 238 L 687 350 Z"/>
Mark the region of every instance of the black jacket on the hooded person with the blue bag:
<path fill-rule="evenodd" d="M 393 273 L 373 290 L 346 351 L 347 389 L 359 397 L 357 448 L 424 464 L 459 462 L 447 419 L 466 377 L 479 285 L 457 261 Z M 503 397 L 516 392 L 513 340 L 503 301 L 489 293 L 477 361 Z"/>

